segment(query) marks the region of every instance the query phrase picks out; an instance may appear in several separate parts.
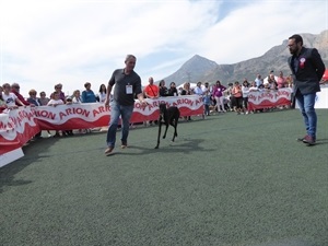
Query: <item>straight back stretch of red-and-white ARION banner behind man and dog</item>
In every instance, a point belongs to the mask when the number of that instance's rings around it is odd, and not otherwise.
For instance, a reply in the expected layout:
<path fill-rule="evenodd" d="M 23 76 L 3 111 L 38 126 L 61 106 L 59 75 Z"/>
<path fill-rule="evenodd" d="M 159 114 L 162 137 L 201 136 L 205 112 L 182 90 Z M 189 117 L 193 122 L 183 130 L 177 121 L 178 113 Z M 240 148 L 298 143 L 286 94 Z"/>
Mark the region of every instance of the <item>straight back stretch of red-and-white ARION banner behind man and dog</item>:
<path fill-rule="evenodd" d="M 149 105 L 142 107 L 139 101 L 134 103 L 131 122 L 143 122 L 159 118 L 159 105 L 177 106 L 181 116 L 201 115 L 203 113 L 202 97 L 169 96 L 157 99 L 147 99 Z M 58 105 L 57 107 L 35 107 L 35 117 L 42 130 L 71 130 L 107 126 L 110 119 L 110 106 L 101 103 Z"/>

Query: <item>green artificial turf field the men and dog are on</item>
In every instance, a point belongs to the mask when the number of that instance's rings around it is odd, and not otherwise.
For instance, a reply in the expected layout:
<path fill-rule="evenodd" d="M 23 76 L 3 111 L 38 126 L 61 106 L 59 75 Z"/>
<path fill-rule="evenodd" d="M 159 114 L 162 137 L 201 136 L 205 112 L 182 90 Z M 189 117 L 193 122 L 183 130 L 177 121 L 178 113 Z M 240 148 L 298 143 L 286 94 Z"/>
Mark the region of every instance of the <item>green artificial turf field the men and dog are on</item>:
<path fill-rule="evenodd" d="M 0 168 L 0 244 L 327 246 L 317 115 L 315 147 L 296 141 L 296 109 L 181 120 L 159 150 L 157 128 L 139 126 L 112 156 L 105 132 L 31 142 Z"/>

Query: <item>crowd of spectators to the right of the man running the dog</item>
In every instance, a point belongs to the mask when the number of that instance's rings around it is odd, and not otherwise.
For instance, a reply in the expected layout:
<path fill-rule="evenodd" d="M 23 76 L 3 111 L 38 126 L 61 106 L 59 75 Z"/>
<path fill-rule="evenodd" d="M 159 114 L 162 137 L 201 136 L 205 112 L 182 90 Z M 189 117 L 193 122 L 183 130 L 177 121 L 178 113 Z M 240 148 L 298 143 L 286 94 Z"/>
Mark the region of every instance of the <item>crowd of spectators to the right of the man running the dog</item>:
<path fill-rule="evenodd" d="M 243 83 L 235 81 L 234 83 L 229 83 L 226 86 L 218 80 L 213 84 L 197 82 L 195 86 L 186 82 L 178 87 L 176 87 L 175 82 L 171 82 L 169 87 L 166 87 L 164 80 L 161 80 L 157 86 L 153 83 L 153 78 L 150 79 L 150 84 L 144 89 L 145 97 L 199 95 L 202 97 L 204 104 L 203 116 L 227 112 L 235 112 L 237 115 L 255 113 L 254 110 L 248 110 L 248 94 L 250 92 L 270 92 L 293 86 L 292 77 L 284 77 L 282 71 L 279 72 L 278 77 L 274 75 L 273 71 L 270 71 L 265 79 L 262 79 L 261 74 L 257 74 L 251 82 L 244 79 Z M 266 108 L 258 112 L 266 112 Z M 191 118 L 186 117 L 185 119 L 190 120 Z"/>

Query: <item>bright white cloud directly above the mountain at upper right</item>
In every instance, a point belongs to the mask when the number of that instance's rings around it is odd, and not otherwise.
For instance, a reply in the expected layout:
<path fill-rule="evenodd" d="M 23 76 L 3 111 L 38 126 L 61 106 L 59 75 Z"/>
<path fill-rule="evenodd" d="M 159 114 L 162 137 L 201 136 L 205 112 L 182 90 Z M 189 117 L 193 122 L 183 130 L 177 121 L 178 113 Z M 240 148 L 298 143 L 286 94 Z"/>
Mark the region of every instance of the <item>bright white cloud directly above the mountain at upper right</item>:
<path fill-rule="evenodd" d="M 250 59 L 295 33 L 327 30 L 327 0 L 254 1 L 209 28 L 199 49 L 219 63 Z"/>

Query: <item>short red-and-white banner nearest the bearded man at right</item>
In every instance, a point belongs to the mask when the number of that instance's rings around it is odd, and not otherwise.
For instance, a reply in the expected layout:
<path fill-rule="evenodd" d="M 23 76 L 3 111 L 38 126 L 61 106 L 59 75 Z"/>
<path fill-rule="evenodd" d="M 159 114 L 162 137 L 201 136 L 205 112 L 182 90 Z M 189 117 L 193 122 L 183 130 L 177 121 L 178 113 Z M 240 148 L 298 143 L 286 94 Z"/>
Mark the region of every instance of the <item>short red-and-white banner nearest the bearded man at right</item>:
<path fill-rule="evenodd" d="M 283 87 L 277 91 L 249 92 L 248 110 L 291 105 L 292 89 Z"/>

